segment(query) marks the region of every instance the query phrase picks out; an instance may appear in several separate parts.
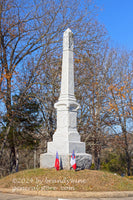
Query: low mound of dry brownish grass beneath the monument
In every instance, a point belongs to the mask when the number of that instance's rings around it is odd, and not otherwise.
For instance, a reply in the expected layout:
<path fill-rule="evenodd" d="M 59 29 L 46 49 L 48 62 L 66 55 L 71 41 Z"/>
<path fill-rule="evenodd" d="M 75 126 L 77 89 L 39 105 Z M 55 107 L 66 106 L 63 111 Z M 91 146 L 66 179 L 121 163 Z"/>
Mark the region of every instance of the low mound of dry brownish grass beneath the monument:
<path fill-rule="evenodd" d="M 95 170 L 32 169 L 0 179 L 0 188 L 30 191 L 133 191 L 133 180 Z"/>

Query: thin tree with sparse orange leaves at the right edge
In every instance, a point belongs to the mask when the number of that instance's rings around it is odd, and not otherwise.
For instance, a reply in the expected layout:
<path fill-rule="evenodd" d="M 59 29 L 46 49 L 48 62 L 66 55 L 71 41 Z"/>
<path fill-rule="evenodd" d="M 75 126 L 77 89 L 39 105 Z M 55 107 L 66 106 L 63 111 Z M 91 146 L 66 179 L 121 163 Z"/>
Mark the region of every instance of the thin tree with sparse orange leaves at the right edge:
<path fill-rule="evenodd" d="M 108 75 L 108 111 L 117 125 L 117 133 L 123 145 L 127 165 L 127 174 L 131 169 L 131 123 L 133 122 L 133 66 L 132 56 L 127 51 L 113 50 L 107 62 L 111 74 Z"/>

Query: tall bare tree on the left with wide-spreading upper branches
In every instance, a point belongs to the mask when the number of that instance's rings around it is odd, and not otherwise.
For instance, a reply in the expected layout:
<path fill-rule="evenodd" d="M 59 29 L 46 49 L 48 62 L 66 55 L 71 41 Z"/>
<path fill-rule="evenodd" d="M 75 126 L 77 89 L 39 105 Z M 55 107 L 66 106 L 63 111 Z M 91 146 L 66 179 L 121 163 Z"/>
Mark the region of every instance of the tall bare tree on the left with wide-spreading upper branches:
<path fill-rule="evenodd" d="M 38 87 L 42 89 L 40 93 L 44 91 L 46 93 L 47 90 L 45 99 L 42 99 L 42 93 L 40 96 L 36 93 L 36 97 L 41 100 L 43 108 L 49 104 L 49 111 L 46 111 L 48 115 L 45 115 L 46 112 L 43 110 L 42 114 L 45 118 L 47 117 L 45 123 L 47 122 L 47 130 L 52 136 L 51 129 L 55 129 L 55 120 L 53 120 L 55 116 L 52 116 L 53 102 L 49 102 L 51 99 L 49 92 L 53 90 L 57 98 L 58 84 L 54 85 L 55 78 L 52 79 L 51 75 L 55 74 L 51 74 L 50 70 L 55 66 L 58 69 L 54 62 L 60 60 L 61 33 L 67 27 L 74 31 L 77 30 L 76 34 L 82 38 L 81 44 L 86 44 L 86 37 L 88 41 L 92 41 L 95 51 L 98 48 L 95 41 L 96 38 L 98 39 L 100 26 L 96 24 L 94 14 L 95 6 L 89 0 L 85 0 L 84 4 L 80 0 L 42 0 L 39 2 L 31 0 L 28 5 L 26 1 L 19 0 L 0 1 L 0 99 L 3 107 L 1 124 L 6 127 L 0 157 L 10 134 L 9 148 L 14 170 L 16 168 L 15 143 L 10 131 L 14 121 L 12 96 L 21 90 L 19 99 L 21 101 L 23 96 L 28 95 L 29 90 L 32 91 L 34 97 L 35 92 L 33 91 Z M 91 33 L 89 32 L 90 27 L 92 27 Z M 100 39 L 97 41 L 99 42 Z M 27 69 L 26 73 L 24 69 Z M 48 79 L 53 82 L 50 83 Z M 51 86 L 53 86 L 52 89 Z M 3 123 L 2 119 L 5 114 L 8 121 Z"/>

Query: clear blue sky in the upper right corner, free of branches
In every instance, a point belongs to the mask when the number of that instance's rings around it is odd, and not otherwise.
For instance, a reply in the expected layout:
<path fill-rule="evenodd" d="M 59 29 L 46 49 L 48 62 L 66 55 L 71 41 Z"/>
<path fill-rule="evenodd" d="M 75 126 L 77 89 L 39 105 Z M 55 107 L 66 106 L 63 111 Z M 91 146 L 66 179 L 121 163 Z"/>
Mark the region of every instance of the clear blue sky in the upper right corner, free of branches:
<path fill-rule="evenodd" d="M 96 0 L 103 8 L 98 19 L 108 31 L 113 45 L 133 50 L 133 0 Z"/>

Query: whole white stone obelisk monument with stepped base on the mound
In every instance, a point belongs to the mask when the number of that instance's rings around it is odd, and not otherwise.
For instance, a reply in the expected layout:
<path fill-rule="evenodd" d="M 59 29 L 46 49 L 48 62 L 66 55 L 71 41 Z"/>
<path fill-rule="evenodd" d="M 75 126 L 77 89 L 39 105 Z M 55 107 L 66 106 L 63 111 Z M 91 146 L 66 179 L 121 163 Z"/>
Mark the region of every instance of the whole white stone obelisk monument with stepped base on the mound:
<path fill-rule="evenodd" d="M 70 157 L 75 151 L 77 167 L 88 169 L 92 156 L 85 153 L 85 143 L 80 141 L 77 131 L 77 110 L 79 104 L 74 95 L 73 33 L 68 28 L 63 35 L 63 59 L 61 92 L 55 108 L 57 110 L 57 129 L 53 141 L 47 144 L 47 153 L 40 156 L 41 168 L 52 168 L 56 152 L 63 168 L 70 169 Z"/>

